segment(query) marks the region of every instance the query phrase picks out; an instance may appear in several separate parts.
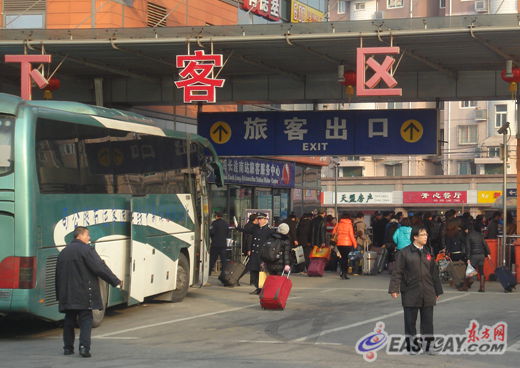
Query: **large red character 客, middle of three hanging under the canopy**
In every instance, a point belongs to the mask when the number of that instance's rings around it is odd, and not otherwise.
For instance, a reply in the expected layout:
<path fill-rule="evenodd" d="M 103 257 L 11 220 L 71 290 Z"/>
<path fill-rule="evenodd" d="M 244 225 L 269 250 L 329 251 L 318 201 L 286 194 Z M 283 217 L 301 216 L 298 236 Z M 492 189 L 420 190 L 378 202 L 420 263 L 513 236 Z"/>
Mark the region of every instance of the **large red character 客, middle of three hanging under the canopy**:
<path fill-rule="evenodd" d="M 221 54 L 208 54 L 204 50 L 196 50 L 195 55 L 177 55 L 177 68 L 182 80 L 175 82 L 178 88 L 184 89 L 184 102 L 216 101 L 215 88 L 224 86 L 224 79 L 211 78 L 214 67 L 222 67 Z"/>

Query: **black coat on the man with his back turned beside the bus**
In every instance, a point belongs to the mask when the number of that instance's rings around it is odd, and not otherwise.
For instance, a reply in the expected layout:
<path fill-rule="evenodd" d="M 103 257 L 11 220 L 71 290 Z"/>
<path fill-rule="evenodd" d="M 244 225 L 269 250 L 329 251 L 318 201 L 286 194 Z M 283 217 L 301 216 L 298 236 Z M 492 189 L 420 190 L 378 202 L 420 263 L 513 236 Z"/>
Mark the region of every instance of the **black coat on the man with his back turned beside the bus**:
<path fill-rule="evenodd" d="M 60 252 L 56 264 L 56 300 L 60 312 L 103 309 L 98 277 L 112 286 L 121 282 L 93 247 L 74 239 Z"/>

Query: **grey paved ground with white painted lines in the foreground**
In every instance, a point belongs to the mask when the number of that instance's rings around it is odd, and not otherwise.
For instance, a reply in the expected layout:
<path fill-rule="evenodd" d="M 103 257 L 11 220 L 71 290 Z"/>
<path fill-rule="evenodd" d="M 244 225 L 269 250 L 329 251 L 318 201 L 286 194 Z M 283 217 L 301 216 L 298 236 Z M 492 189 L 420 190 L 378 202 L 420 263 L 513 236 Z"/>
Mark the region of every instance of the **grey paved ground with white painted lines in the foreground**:
<path fill-rule="evenodd" d="M 247 278 L 247 276 L 246 276 Z M 264 311 L 249 286 L 192 289 L 179 304 L 146 303 L 110 311 L 93 332 L 93 357 L 61 355 L 61 330 L 41 321 L 0 319 L 0 367 L 518 367 L 520 292 L 446 293 L 435 308 L 436 333 L 464 334 L 469 321 L 509 324 L 503 355 L 402 356 L 378 353 L 367 363 L 355 352 L 377 321 L 388 334 L 403 330 L 400 302 L 386 290 L 389 276 L 339 280 L 293 275 L 285 311 Z M 243 280 L 247 281 L 247 280 Z"/>

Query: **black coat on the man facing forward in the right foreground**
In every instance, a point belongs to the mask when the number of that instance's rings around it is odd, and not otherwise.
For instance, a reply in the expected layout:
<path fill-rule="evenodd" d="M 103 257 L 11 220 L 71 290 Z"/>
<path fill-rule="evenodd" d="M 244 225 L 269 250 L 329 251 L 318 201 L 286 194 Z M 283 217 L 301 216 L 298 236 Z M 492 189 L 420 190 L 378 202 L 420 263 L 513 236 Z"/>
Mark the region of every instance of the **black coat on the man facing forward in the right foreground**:
<path fill-rule="evenodd" d="M 403 307 L 430 307 L 443 293 L 435 258 L 413 244 L 397 253 L 388 292 L 401 293 Z"/>

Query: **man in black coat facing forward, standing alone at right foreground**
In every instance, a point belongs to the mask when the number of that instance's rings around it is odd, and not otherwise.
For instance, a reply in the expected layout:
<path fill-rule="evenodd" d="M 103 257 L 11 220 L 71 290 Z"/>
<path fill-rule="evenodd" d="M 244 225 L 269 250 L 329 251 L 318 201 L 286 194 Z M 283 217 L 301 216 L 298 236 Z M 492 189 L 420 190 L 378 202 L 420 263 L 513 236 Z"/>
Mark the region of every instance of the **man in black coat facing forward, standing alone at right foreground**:
<path fill-rule="evenodd" d="M 443 293 L 442 284 L 435 259 L 425 247 L 428 233 L 424 226 L 414 226 L 411 239 L 412 244 L 397 254 L 388 292 L 393 298 L 401 293 L 407 350 L 417 353 L 421 348 L 411 346 L 411 339 L 417 335 L 416 322 L 420 311 L 421 336 L 426 342 L 426 345 L 423 344 L 424 350 L 430 352 L 433 343 L 433 306 Z"/>

